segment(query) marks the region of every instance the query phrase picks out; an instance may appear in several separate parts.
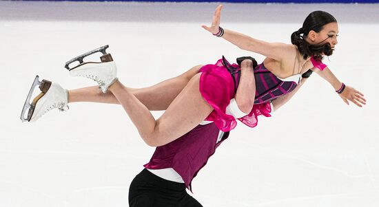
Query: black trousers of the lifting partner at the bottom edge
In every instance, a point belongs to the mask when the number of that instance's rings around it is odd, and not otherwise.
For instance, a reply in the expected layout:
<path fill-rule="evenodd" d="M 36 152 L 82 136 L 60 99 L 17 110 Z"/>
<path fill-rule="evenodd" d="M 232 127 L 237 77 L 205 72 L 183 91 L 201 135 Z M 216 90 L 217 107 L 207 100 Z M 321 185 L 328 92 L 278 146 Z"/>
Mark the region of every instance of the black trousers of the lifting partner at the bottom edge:
<path fill-rule="evenodd" d="M 185 190 L 185 184 L 172 182 L 143 169 L 129 188 L 130 207 L 202 207 Z"/>

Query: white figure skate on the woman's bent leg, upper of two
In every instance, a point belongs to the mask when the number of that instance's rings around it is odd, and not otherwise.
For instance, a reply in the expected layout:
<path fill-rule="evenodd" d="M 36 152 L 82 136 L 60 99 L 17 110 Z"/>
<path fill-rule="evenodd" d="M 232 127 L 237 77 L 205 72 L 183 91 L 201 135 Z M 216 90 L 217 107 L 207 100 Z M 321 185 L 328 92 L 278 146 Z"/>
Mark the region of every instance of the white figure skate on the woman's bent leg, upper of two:
<path fill-rule="evenodd" d="M 112 56 L 105 52 L 108 47 L 108 45 L 105 45 L 77 56 L 76 58 L 72 58 L 65 63 L 65 68 L 70 71 L 71 76 L 82 76 L 96 81 L 99 84 L 101 91 L 105 94 L 108 88 L 117 80 L 116 64 L 114 63 Z M 83 58 L 95 54 L 96 52 L 103 53 L 103 56 L 100 57 L 101 62 L 83 62 Z M 76 61 L 79 61 L 79 65 L 70 68 L 69 65 Z"/>

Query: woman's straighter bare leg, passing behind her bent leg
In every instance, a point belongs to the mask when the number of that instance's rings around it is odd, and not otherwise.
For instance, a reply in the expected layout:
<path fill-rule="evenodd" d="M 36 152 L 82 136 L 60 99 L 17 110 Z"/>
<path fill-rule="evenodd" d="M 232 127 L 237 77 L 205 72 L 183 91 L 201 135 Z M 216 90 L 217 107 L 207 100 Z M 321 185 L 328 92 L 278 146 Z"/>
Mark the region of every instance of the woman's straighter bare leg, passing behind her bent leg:
<path fill-rule="evenodd" d="M 172 100 L 181 92 L 187 85 L 188 81 L 196 74 L 202 65 L 192 67 L 184 74 L 164 80 L 161 83 L 151 87 L 141 89 L 128 90 L 132 92 L 136 98 L 142 102 L 150 111 L 165 110 L 171 104 Z M 85 87 L 81 89 L 72 89 L 68 91 L 68 102 L 101 102 L 110 104 L 119 104 L 119 100 L 108 91 L 103 94 L 98 86 Z"/>

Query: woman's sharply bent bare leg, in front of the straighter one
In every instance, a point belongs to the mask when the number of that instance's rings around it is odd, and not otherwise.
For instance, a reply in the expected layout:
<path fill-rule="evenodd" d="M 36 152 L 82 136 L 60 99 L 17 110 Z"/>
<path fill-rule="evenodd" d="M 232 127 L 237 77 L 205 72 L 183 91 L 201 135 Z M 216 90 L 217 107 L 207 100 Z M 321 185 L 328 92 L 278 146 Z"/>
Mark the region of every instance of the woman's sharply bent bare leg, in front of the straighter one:
<path fill-rule="evenodd" d="M 213 108 L 199 91 L 200 75 L 196 74 L 174 98 L 165 113 L 155 120 L 149 109 L 119 80 L 109 90 L 119 100 L 141 138 L 150 146 L 161 146 L 176 140 L 203 121 Z M 159 98 L 161 99 L 161 98 Z"/>

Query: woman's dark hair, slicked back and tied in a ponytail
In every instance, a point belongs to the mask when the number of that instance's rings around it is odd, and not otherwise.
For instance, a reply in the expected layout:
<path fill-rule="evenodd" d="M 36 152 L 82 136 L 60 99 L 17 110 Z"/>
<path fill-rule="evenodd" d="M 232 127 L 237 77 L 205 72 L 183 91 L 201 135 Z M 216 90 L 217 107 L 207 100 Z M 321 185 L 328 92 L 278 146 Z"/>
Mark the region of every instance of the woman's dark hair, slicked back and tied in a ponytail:
<path fill-rule="evenodd" d="M 328 12 L 311 12 L 308 17 L 305 18 L 303 27 L 291 34 L 291 43 L 298 46 L 300 54 L 302 54 L 305 59 L 310 56 L 314 56 L 316 61 L 321 61 L 322 53 L 327 56 L 333 54 L 331 45 L 329 43 L 325 43 L 323 45 L 311 45 L 305 41 L 305 37 L 311 30 L 314 30 L 314 32 L 320 32 L 322 28 L 324 28 L 324 25 L 332 22 L 337 22 L 337 20 Z"/>

